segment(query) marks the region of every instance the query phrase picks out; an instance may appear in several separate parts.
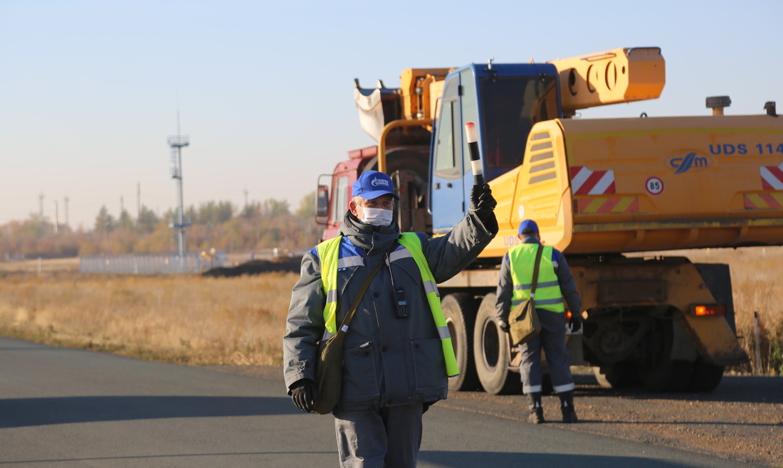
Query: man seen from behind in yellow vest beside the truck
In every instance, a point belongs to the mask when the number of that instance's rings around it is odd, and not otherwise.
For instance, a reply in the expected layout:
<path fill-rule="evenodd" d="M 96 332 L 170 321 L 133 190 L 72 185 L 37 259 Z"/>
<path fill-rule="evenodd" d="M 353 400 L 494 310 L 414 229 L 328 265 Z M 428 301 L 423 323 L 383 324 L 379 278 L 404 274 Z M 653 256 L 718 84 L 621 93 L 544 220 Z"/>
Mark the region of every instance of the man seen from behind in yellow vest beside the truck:
<path fill-rule="evenodd" d="M 566 333 L 582 332 L 582 300 L 576 291 L 574 277 L 558 250 L 542 246 L 538 225 L 532 219 L 519 223 L 521 243 L 511 247 L 503 257 L 500 266 L 500 281 L 497 286 L 496 312 L 500 328 L 508 331 L 508 315 L 511 308 L 527 301 L 533 279 L 536 253 L 542 249 L 539 261 L 539 275 L 533 300 L 541 322 L 541 332 L 529 341 L 519 345 L 522 361 L 519 373 L 522 393 L 527 397 L 531 423 L 543 423 L 541 407 L 541 349 L 547 358 L 549 374 L 554 391 L 560 396 L 560 409 L 564 423 L 576 423 L 574 411 L 574 381 L 568 367 L 568 351 L 565 349 Z M 572 311 L 572 318 L 565 324 L 565 306 Z"/>

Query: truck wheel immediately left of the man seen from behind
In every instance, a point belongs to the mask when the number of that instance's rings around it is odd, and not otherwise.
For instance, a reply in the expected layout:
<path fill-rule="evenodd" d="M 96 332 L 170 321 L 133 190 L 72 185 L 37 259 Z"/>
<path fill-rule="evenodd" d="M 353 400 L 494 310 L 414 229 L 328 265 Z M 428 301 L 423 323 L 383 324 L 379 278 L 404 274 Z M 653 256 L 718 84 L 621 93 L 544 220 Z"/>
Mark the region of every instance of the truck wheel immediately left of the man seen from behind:
<path fill-rule="evenodd" d="M 521 391 L 517 373 L 511 372 L 508 333 L 498 326 L 495 316 L 495 293 L 487 294 L 478 306 L 473 329 L 473 355 L 476 373 L 489 394 L 511 394 Z"/>

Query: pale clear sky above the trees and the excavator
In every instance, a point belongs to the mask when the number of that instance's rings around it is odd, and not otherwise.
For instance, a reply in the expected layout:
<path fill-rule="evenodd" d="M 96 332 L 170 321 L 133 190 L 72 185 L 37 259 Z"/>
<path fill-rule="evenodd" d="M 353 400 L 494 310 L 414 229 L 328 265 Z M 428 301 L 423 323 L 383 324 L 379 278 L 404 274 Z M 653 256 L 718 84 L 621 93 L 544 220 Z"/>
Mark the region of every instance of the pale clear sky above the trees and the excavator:
<path fill-rule="evenodd" d="M 705 6 L 709 5 L 709 6 Z M 783 110 L 783 2 L 0 0 L 0 224 L 38 213 L 92 229 L 121 198 L 176 205 L 167 139 L 183 135 L 186 205 L 269 198 L 296 209 L 346 152 L 370 146 L 353 78 L 411 67 L 538 62 L 659 46 L 656 101 L 583 117 Z"/>

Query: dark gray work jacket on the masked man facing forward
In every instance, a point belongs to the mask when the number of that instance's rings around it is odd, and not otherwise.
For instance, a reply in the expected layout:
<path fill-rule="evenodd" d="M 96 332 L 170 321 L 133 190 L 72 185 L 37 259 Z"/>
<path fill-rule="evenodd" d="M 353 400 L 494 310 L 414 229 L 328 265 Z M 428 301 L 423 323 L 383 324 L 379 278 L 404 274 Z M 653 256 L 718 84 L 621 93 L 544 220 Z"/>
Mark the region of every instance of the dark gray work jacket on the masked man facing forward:
<path fill-rule="evenodd" d="M 399 227 L 365 225 L 348 212 L 340 229 L 341 268 L 337 270 L 337 326 L 366 275 L 399 238 Z M 468 214 L 446 236 L 419 234 L 424 257 L 441 283 L 471 263 L 495 233 Z M 373 278 L 345 335 L 341 401 L 336 409 L 413 405 L 446 398 L 448 377 L 435 322 L 416 261 L 397 245 L 391 261 Z M 392 281 L 393 285 L 392 286 Z M 395 290 L 402 289 L 410 316 L 397 314 Z M 325 330 L 324 297 L 316 249 L 301 262 L 301 278 L 291 293 L 283 337 L 286 387 L 300 379 L 316 380 L 318 343 Z"/>

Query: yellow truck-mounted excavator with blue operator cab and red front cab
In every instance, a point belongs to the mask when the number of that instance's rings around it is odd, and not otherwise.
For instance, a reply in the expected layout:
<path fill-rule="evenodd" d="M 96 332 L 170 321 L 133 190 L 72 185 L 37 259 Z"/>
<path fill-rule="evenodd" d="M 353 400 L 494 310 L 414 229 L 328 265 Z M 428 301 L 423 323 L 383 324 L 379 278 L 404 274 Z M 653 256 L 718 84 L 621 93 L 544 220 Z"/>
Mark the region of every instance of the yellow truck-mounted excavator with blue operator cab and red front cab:
<path fill-rule="evenodd" d="M 399 88 L 355 82 L 356 149 L 322 176 L 318 219 L 334 236 L 363 171 L 387 172 L 405 231 L 439 236 L 464 217 L 473 181 L 464 124 L 474 122 L 500 232 L 441 292 L 460 376 L 453 388 L 519 391 L 519 356 L 495 318 L 500 261 L 535 219 L 563 251 L 583 299 L 572 365 L 604 387 L 711 391 L 727 365 L 748 361 L 734 329 L 727 265 L 629 256 L 783 243 L 783 119 L 725 115 L 576 118 L 593 106 L 656 99 L 666 83 L 655 47 L 613 49 L 548 63 L 471 63 L 408 69 Z M 328 178 L 329 180 L 323 180 Z M 321 183 L 324 182 L 324 183 Z"/>

